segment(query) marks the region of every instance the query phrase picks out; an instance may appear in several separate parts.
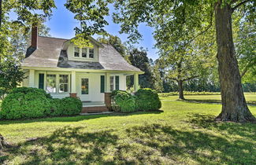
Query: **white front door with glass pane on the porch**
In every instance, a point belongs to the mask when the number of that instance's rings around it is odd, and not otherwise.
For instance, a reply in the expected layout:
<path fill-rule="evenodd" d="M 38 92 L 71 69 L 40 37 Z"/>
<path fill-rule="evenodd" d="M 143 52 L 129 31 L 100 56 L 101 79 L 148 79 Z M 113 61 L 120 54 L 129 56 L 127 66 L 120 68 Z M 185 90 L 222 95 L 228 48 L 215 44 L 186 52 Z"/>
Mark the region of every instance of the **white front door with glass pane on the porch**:
<path fill-rule="evenodd" d="M 80 77 L 79 96 L 81 101 L 91 101 L 90 97 L 90 81 L 88 77 Z"/>

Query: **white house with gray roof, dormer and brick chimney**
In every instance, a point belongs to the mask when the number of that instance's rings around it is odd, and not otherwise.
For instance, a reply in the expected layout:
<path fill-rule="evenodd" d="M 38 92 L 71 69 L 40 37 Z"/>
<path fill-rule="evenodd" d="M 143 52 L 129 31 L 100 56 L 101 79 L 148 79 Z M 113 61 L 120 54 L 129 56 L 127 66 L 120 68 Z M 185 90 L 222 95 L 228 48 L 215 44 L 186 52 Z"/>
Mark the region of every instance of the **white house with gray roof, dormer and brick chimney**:
<path fill-rule="evenodd" d="M 56 98 L 79 97 L 85 107 L 103 106 L 111 91 L 126 90 L 127 75 L 134 75 L 138 90 L 143 72 L 113 46 L 90 37 L 93 48 L 80 48 L 71 39 L 37 34 L 37 27 L 32 27 L 32 45 L 21 64 L 28 79 L 22 86 L 41 88 Z"/>

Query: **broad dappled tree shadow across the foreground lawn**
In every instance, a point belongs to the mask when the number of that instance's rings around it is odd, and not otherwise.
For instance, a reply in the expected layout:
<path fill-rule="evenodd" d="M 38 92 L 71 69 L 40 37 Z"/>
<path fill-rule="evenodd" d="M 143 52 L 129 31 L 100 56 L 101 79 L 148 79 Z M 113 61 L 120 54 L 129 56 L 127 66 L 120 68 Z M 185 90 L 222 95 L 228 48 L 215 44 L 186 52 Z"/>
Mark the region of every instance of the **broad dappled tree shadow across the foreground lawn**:
<path fill-rule="evenodd" d="M 47 138 L 27 141 L 6 151 L 2 163 L 5 160 L 9 163 L 18 160 L 20 164 L 254 163 L 254 126 L 226 123 L 223 127 L 222 123 L 211 122 L 212 116 L 191 117 L 189 122 L 198 127 L 228 131 L 246 139 L 230 139 L 228 134 L 225 137 L 207 133 L 205 129 L 177 130 L 164 123 L 95 132 L 87 132 L 86 127 L 64 127 Z"/>

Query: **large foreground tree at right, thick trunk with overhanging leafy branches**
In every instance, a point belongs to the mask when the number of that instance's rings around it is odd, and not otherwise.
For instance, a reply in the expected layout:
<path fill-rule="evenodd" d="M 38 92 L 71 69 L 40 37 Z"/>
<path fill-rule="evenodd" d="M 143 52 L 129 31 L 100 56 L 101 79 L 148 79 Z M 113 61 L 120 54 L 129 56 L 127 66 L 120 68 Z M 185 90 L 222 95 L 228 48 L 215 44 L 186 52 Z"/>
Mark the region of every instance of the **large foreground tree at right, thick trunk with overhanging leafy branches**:
<path fill-rule="evenodd" d="M 71 0 L 70 0 L 71 1 Z M 81 31 L 100 31 L 107 24 L 104 16 L 109 15 L 108 2 L 114 2 L 117 13 L 113 14 L 114 21 L 121 24 L 121 32 L 128 33 L 131 39 L 141 37 L 139 24 L 146 22 L 154 27 L 154 38 L 157 46 L 163 42 L 170 45 L 176 44 L 176 40 L 190 37 L 191 40 L 198 35 L 206 33 L 212 27 L 215 20 L 217 61 L 219 79 L 221 84 L 221 114 L 217 119 L 223 121 L 247 122 L 256 121 L 249 111 L 243 94 L 241 76 L 239 74 L 236 59 L 235 46 L 232 35 L 232 13 L 237 9 L 243 9 L 248 20 L 254 21 L 253 0 L 124 0 L 102 1 L 87 0 L 83 6 L 83 19 L 95 20 L 95 24 L 83 26 Z M 91 4 L 91 5 L 88 5 Z M 94 11 L 99 6 L 102 11 Z M 78 6 L 76 7 L 78 8 Z M 102 24 L 101 24 L 102 22 Z M 98 26 L 97 26 L 98 25 Z M 96 29 L 96 30 L 95 30 Z M 103 29 L 104 30 L 104 29 Z"/>

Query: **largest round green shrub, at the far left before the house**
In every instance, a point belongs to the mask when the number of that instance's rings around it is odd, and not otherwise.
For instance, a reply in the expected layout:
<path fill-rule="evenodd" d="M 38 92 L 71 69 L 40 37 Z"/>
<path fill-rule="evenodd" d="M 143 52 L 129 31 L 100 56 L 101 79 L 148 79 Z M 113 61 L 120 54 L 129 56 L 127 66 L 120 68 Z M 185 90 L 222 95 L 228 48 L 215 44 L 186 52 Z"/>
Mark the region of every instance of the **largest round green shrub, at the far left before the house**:
<path fill-rule="evenodd" d="M 5 97 L 0 113 L 4 119 L 28 119 L 46 116 L 49 110 L 50 101 L 46 95 L 17 92 Z"/>

